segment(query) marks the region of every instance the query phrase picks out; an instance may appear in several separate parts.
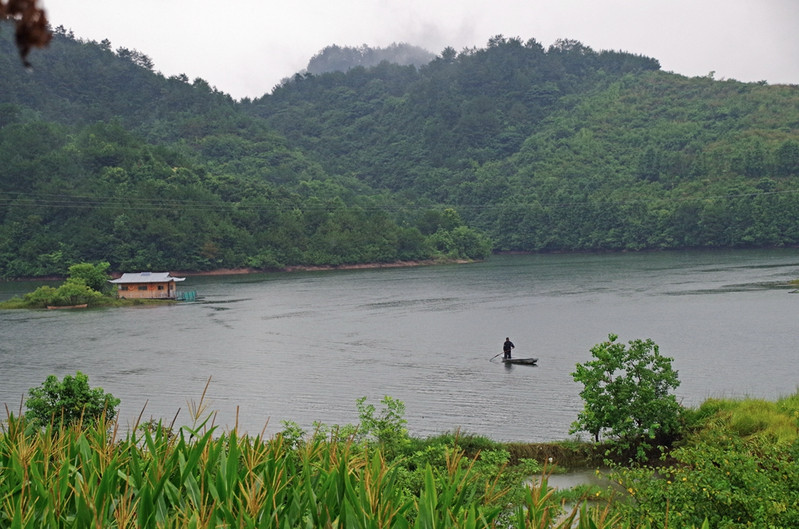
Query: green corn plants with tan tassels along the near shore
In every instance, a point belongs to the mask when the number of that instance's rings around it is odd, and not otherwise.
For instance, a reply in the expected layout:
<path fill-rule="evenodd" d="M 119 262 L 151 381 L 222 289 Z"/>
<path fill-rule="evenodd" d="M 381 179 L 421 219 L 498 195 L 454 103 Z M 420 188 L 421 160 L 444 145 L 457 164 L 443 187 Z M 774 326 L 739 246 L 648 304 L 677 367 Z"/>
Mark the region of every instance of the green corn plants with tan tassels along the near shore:
<path fill-rule="evenodd" d="M 379 449 L 282 435 L 219 433 L 207 422 L 160 424 L 118 438 L 100 422 L 38 430 L 9 416 L 0 432 L 2 528 L 611 528 L 578 505 L 561 512 L 546 481 L 507 502 L 478 459 L 453 450 L 423 471 L 421 491 L 398 486 Z M 576 524 L 576 525 L 575 525 Z"/>

